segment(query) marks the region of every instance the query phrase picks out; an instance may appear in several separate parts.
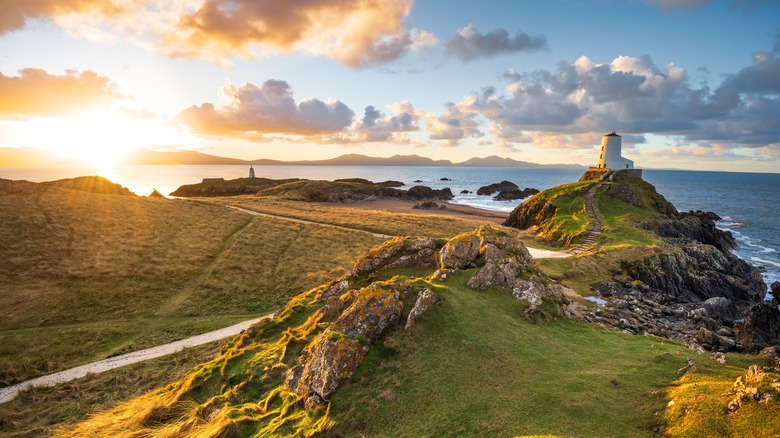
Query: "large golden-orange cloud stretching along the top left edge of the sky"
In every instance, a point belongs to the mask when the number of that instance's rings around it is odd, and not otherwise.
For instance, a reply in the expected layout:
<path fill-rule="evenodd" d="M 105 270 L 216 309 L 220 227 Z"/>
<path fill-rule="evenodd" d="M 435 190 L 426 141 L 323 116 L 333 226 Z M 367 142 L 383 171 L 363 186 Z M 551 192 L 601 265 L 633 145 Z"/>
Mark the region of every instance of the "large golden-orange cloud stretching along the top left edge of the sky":
<path fill-rule="evenodd" d="M 123 38 L 166 56 L 220 64 L 299 51 L 351 67 L 393 61 L 436 43 L 407 29 L 412 0 L 12 0 L 0 33 L 51 19 L 79 38 Z"/>

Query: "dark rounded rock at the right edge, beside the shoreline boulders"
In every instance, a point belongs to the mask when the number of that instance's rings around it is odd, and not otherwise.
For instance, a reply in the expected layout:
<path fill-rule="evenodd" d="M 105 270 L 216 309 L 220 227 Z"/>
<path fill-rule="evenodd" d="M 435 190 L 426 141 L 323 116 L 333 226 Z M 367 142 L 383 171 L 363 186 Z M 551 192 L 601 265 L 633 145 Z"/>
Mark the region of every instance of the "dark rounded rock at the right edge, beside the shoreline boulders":
<path fill-rule="evenodd" d="M 777 306 L 759 303 L 750 308 L 745 318 L 734 324 L 737 343 L 749 352 L 780 345 L 780 310 Z"/>

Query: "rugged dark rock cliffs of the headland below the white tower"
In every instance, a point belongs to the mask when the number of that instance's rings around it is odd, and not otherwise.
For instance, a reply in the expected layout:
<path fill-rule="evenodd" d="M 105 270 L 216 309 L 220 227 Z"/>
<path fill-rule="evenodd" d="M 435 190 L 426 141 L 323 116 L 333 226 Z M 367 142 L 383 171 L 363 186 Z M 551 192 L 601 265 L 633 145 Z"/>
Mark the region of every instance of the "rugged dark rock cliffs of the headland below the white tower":
<path fill-rule="evenodd" d="M 757 351 L 780 343 L 775 312 L 760 304 L 766 284 L 758 269 L 731 253 L 736 243 L 731 233 L 715 226 L 717 215 L 678 213 L 655 187 L 630 172 L 586 174 L 581 181 L 534 196 L 505 225 L 541 233 L 555 223 L 557 205 L 576 205 L 589 190 L 597 191 L 600 202 L 623 206 L 613 209 L 636 212 L 623 219 L 621 226 L 630 230 L 622 232 L 643 230 L 646 239 L 658 243 L 639 252 L 611 250 L 619 260 L 608 274 L 611 279 L 591 285 L 605 304 L 585 312 L 583 319 L 719 352 Z M 556 204 L 560 193 L 567 198 Z"/>

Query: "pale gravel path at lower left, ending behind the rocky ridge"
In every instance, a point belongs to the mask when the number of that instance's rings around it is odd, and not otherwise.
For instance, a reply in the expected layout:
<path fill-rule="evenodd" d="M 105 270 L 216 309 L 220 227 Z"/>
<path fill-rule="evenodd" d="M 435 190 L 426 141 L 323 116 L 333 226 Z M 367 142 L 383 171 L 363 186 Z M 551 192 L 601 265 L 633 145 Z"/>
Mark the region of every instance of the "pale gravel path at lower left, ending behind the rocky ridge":
<path fill-rule="evenodd" d="M 197 345 L 207 344 L 212 341 L 235 336 L 241 333 L 241 331 L 249 328 L 249 326 L 252 324 L 271 317 L 273 317 L 273 313 L 261 316 L 259 318 L 239 322 L 238 324 L 234 324 L 230 327 L 225 327 L 219 330 L 214 330 L 213 332 L 203 333 L 202 335 L 171 342 L 170 344 L 158 345 L 156 347 L 147 348 L 145 350 L 138 350 L 132 353 L 123 354 L 121 356 L 110 357 L 108 359 L 92 362 L 80 367 L 60 371 L 59 373 L 37 377 L 22 383 L 17 383 L 16 385 L 0 388 L 0 403 L 6 403 L 13 400 L 20 391 L 24 391 L 25 389 L 29 389 L 31 387 L 54 386 L 60 383 L 82 378 L 87 374 L 102 373 L 103 371 L 113 370 L 114 368 L 119 368 L 136 362 L 167 356 L 185 348 L 195 347 Z"/>

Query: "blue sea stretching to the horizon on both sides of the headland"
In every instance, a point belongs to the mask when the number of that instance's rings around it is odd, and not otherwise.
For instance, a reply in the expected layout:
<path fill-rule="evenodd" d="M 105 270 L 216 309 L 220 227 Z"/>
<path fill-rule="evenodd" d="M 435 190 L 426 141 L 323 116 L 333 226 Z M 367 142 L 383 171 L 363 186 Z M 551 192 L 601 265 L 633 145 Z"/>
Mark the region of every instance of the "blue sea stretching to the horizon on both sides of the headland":
<path fill-rule="evenodd" d="M 256 176 L 273 179 L 365 178 L 375 182 L 401 181 L 406 188 L 449 187 L 455 195 L 452 202 L 504 212 L 512 211 L 522 201 L 494 201 L 489 196 L 476 195 L 477 189 L 506 180 L 521 189 L 545 190 L 577 181 L 584 172 L 584 169 L 550 167 L 254 166 L 254 169 Z M 148 195 L 153 189 L 168 195 L 181 185 L 198 183 L 203 178 L 233 179 L 248 174 L 249 168 L 244 165 L 0 166 L 3 179 L 42 182 L 99 175 L 140 196 Z M 734 235 L 739 244 L 736 255 L 756 266 L 767 285 L 780 281 L 780 174 L 644 169 L 643 178 L 679 211 L 712 211 L 721 216 L 723 220 L 718 222 L 718 227 Z"/>

